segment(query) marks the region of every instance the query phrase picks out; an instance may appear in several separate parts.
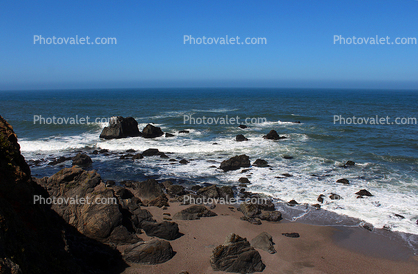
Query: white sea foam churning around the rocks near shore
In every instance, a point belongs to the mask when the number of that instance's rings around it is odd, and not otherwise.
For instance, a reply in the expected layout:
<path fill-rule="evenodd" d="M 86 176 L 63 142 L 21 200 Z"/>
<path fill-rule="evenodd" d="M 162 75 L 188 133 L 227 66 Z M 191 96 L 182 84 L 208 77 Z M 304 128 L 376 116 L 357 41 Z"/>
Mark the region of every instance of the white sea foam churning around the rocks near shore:
<path fill-rule="evenodd" d="M 140 128 L 146 126 L 141 123 Z M 165 128 L 164 131 L 170 131 Z M 271 124 L 269 124 L 271 126 Z M 414 182 L 408 174 L 399 174 L 396 170 L 387 170 L 374 163 L 357 163 L 354 168 L 339 168 L 338 162 L 313 155 L 304 150 L 308 137 L 305 134 L 292 133 L 290 138 L 274 142 L 263 140 L 260 133 L 247 132 L 247 142 L 236 142 L 231 134 L 214 139 L 204 139 L 206 131 L 188 129 L 189 134 L 177 134 L 175 137 L 156 139 L 126 138 L 100 140 L 100 131 L 85 133 L 80 136 L 56 136 L 40 140 L 21 139 L 22 153 L 28 159 L 41 155 L 60 155 L 71 149 L 102 148 L 111 151 L 135 149 L 143 151 L 157 148 L 169 154 L 170 158 L 188 159 L 187 165 L 172 164 L 159 157 L 130 163 L 145 175 L 159 175 L 161 178 L 180 178 L 191 181 L 224 183 L 237 185 L 240 177 L 249 176 L 249 191 L 262 192 L 283 201 L 295 199 L 299 203 L 318 203 L 319 194 L 326 196 L 322 208 L 346 216 L 358 218 L 373 224 L 376 228 L 387 227 L 393 231 L 418 234 L 415 224 L 418 218 L 418 190 L 411 186 Z M 233 129 L 233 131 L 239 129 Z M 203 138 L 203 139 L 202 139 Z M 216 144 L 214 144 L 216 143 Z M 253 167 L 248 173 L 240 170 L 222 172 L 221 161 L 234 155 L 247 154 L 254 162 L 258 158 L 266 159 L 267 168 Z M 294 159 L 286 160 L 281 156 L 290 155 Z M 107 161 L 113 158 L 103 158 Z M 290 173 L 293 177 L 282 174 Z M 316 176 L 312 176 L 316 175 Z M 276 178 L 279 177 L 279 178 Z M 336 183 L 337 179 L 347 178 L 349 185 Z M 355 194 L 360 189 L 367 189 L 374 196 L 358 199 Z M 335 193 L 341 200 L 331 200 L 329 195 Z M 301 217 L 303 214 L 297 217 Z M 404 216 L 396 217 L 395 214 Z"/>

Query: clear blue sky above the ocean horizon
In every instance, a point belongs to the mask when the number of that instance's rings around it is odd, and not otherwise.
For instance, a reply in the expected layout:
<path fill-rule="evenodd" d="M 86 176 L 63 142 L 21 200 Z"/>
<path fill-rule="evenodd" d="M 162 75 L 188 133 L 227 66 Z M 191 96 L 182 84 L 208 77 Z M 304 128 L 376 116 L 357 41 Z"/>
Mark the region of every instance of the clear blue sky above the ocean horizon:
<path fill-rule="evenodd" d="M 40 45 L 115 37 L 116 45 Z M 190 45 L 265 37 L 265 45 Z M 123 87 L 418 89 L 418 44 L 340 45 L 342 37 L 418 39 L 415 0 L 0 0 L 0 90 Z"/>

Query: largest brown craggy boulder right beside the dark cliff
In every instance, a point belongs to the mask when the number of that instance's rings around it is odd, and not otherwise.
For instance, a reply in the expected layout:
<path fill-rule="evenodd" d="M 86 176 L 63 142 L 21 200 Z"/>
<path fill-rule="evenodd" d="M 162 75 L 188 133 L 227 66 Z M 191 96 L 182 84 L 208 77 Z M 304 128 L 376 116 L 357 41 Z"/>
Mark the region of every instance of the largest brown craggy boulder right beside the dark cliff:
<path fill-rule="evenodd" d="M 94 170 L 85 171 L 77 166 L 64 168 L 49 177 L 44 187 L 50 196 L 62 201 L 53 204 L 52 209 L 90 238 L 103 241 L 122 222 L 114 191 L 104 187 Z"/>

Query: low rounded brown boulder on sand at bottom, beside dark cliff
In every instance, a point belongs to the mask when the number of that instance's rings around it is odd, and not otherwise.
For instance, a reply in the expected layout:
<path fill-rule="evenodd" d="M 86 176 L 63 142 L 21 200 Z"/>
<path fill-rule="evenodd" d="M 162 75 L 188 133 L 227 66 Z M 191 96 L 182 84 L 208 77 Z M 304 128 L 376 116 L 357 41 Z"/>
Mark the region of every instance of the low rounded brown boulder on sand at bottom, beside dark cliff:
<path fill-rule="evenodd" d="M 174 254 L 169 242 L 154 239 L 128 246 L 123 252 L 123 258 L 130 263 L 154 265 L 170 260 Z"/>

